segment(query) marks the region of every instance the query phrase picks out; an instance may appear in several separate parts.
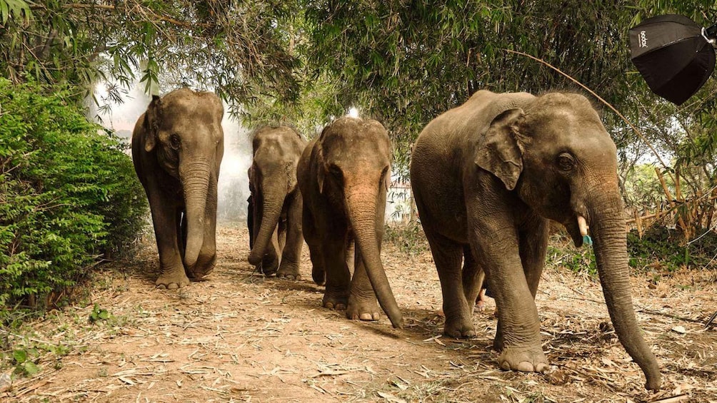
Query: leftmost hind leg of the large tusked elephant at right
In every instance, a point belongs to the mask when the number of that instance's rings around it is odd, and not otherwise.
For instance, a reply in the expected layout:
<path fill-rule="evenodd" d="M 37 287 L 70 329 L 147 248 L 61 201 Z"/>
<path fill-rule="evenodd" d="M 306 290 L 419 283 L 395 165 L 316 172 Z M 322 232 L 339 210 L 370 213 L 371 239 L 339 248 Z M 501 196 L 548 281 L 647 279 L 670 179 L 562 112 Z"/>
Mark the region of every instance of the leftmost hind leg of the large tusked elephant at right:
<path fill-rule="evenodd" d="M 463 246 L 431 229 L 424 228 L 424 230 L 441 282 L 443 313 L 446 318 L 443 333 L 455 338 L 473 337 L 475 328 L 471 318 L 472 312 L 463 291 L 460 266 Z"/>

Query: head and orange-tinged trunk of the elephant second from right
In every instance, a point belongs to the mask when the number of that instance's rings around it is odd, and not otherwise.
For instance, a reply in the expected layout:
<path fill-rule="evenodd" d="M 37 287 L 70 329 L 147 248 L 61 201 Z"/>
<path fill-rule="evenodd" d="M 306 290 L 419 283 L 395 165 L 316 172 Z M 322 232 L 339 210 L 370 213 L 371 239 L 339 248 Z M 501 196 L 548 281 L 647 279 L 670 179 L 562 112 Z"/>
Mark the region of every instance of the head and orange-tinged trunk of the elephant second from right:
<path fill-rule="evenodd" d="M 391 324 L 401 326 L 401 312 L 380 258 L 391 180 L 386 129 L 376 120 L 343 117 L 323 130 L 316 148 L 319 192 L 348 217 L 379 304 Z"/>

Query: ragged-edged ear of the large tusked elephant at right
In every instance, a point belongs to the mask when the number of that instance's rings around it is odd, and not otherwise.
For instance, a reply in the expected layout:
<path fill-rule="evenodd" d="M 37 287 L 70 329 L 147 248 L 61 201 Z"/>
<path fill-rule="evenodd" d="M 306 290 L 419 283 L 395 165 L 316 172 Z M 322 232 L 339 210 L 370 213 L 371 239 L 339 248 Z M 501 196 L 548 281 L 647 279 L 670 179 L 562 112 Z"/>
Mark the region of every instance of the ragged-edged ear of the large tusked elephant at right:
<path fill-rule="evenodd" d="M 505 188 L 516 188 L 523 171 L 523 153 L 516 140 L 516 122 L 523 117 L 520 108 L 506 110 L 493 122 L 478 142 L 475 164 L 497 176 Z"/>

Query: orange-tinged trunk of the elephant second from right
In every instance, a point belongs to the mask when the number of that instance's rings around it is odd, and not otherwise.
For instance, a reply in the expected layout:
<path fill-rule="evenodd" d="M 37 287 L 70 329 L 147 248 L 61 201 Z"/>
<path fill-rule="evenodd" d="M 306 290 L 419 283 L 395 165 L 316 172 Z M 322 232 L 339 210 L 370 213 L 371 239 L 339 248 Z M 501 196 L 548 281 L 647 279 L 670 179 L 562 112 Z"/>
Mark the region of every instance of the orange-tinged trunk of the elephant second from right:
<path fill-rule="evenodd" d="M 354 189 L 355 190 L 355 189 Z M 389 279 L 386 278 L 384 266 L 381 264 L 381 251 L 379 249 L 379 231 L 383 228 L 383 217 L 376 217 L 376 203 L 386 203 L 379 198 L 376 190 L 362 188 L 359 191 L 347 189 L 346 210 L 348 219 L 353 228 L 356 245 L 361 250 L 364 259 L 366 274 L 369 276 L 371 286 L 374 288 L 376 298 L 381 309 L 386 312 L 394 328 L 403 326 L 403 317 L 399 310 Z M 379 228 L 379 226 L 381 228 Z"/>

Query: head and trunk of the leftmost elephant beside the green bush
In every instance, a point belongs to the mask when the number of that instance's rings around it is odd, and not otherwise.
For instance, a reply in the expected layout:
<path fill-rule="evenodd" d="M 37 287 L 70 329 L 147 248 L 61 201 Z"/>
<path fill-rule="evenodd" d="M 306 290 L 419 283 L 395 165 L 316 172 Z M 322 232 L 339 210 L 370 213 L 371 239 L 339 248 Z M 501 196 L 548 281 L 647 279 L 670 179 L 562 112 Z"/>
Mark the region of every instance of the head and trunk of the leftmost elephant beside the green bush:
<path fill-rule="evenodd" d="M 214 266 L 217 180 L 224 153 L 224 107 L 211 92 L 182 88 L 154 96 L 145 113 L 148 127 L 143 149 L 181 184 L 184 200 L 182 237 L 184 267 L 190 277 L 204 276 Z M 169 188 L 168 183 L 160 184 Z M 201 260 L 202 264 L 197 265 Z"/>

